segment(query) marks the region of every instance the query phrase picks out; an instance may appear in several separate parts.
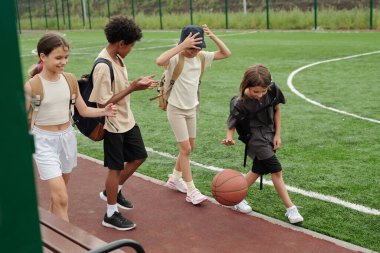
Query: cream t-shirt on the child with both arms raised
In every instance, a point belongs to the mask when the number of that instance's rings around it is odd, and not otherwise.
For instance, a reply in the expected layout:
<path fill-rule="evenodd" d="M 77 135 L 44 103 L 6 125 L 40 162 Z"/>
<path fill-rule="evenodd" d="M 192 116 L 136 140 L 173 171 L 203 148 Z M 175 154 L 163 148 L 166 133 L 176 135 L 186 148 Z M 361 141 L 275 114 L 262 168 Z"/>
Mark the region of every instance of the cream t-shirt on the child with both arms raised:
<path fill-rule="evenodd" d="M 210 67 L 214 52 L 201 51 L 205 56 L 205 67 Z M 179 55 L 170 59 L 167 73 L 171 76 L 178 63 Z M 198 84 L 202 63 L 199 57 L 187 58 L 178 79 L 175 81 L 168 99 L 169 104 L 180 109 L 192 109 L 198 105 Z"/>

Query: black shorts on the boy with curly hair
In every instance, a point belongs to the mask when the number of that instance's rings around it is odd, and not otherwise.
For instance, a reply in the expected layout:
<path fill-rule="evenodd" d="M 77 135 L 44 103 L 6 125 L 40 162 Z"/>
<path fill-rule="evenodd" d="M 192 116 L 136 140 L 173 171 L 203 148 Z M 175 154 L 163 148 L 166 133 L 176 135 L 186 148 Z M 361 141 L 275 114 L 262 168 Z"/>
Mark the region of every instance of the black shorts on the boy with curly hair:
<path fill-rule="evenodd" d="M 148 157 L 140 128 L 136 124 L 125 133 L 104 131 L 104 167 L 123 170 L 124 162 L 142 160 Z"/>

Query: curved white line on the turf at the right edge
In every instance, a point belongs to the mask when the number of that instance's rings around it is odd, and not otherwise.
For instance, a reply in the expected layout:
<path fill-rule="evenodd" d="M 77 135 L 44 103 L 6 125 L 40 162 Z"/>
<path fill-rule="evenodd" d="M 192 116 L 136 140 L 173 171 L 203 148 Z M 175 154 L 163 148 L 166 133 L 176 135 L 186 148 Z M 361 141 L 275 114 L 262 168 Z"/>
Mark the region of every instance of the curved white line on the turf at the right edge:
<path fill-rule="evenodd" d="M 356 58 L 356 57 L 367 56 L 367 55 L 372 55 L 372 54 L 379 54 L 379 53 L 380 53 L 380 51 L 368 52 L 368 53 L 363 53 L 363 54 L 356 54 L 356 55 L 351 55 L 351 56 L 346 56 L 346 57 L 341 57 L 341 58 L 335 58 L 335 59 L 330 59 L 330 60 L 325 60 L 325 61 L 318 61 L 318 62 L 314 62 L 314 63 L 308 64 L 308 65 L 302 66 L 302 67 L 294 70 L 288 76 L 288 81 L 287 81 L 288 87 L 298 97 L 306 100 L 307 102 L 309 102 L 309 103 L 311 103 L 313 105 L 316 105 L 318 107 L 321 107 L 321 108 L 324 108 L 324 109 L 327 109 L 327 110 L 330 110 L 330 111 L 333 111 L 333 112 L 337 112 L 337 113 L 340 113 L 340 114 L 344 114 L 344 115 L 347 115 L 347 116 L 358 118 L 358 119 L 361 119 L 361 120 L 365 120 L 365 121 L 369 121 L 369 122 L 372 122 L 372 123 L 380 124 L 380 120 L 363 117 L 363 116 L 360 116 L 360 115 L 357 115 L 357 114 L 354 114 L 354 113 L 342 111 L 342 110 L 339 110 L 339 109 L 336 109 L 336 108 L 333 108 L 333 107 L 329 107 L 329 106 L 323 105 L 323 104 L 321 104 L 321 103 L 319 103 L 319 102 L 317 102 L 315 100 L 312 100 L 312 99 L 306 97 L 304 94 L 302 94 L 301 92 L 299 92 L 294 87 L 294 85 L 293 85 L 293 78 L 294 78 L 294 76 L 296 74 L 298 74 L 299 72 L 301 72 L 302 70 L 304 70 L 304 69 L 307 69 L 307 68 L 310 68 L 310 67 L 313 67 L 313 66 L 316 66 L 316 65 L 319 65 L 319 64 L 323 64 L 323 63 L 342 61 L 342 60 L 349 60 L 349 59 Z"/>

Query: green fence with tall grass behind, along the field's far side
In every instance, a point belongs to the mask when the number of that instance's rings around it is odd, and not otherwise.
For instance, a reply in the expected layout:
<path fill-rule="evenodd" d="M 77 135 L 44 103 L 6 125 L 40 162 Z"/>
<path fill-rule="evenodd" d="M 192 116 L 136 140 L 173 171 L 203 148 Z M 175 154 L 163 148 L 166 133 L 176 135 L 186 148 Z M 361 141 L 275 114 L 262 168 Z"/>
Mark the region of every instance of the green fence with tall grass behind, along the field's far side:
<path fill-rule="evenodd" d="M 16 0 L 18 29 L 102 29 L 127 15 L 143 29 L 379 29 L 380 0 Z"/>

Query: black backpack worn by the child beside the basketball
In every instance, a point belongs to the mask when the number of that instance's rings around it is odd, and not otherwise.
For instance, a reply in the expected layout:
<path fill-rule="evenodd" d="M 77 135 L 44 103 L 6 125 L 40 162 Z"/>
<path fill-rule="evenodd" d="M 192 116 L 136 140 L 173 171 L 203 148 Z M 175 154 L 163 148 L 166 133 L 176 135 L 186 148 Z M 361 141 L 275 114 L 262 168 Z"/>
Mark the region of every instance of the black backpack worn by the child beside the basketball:
<path fill-rule="evenodd" d="M 235 130 L 238 134 L 238 139 L 245 144 L 244 147 L 244 167 L 247 165 L 247 156 L 248 156 L 248 142 L 251 139 L 251 128 L 249 126 L 249 122 L 257 116 L 259 112 L 266 110 L 269 107 L 272 107 L 274 110 L 274 105 L 277 101 L 277 86 L 275 83 L 272 83 L 268 89 L 268 96 L 271 100 L 271 103 L 267 106 L 260 108 L 254 113 L 248 114 L 247 112 L 240 111 L 236 104 L 238 102 L 239 96 L 234 96 L 230 101 L 230 114 L 237 118 L 237 122 L 235 125 Z M 263 176 L 260 177 L 260 189 L 263 188 Z"/>

